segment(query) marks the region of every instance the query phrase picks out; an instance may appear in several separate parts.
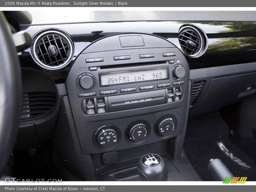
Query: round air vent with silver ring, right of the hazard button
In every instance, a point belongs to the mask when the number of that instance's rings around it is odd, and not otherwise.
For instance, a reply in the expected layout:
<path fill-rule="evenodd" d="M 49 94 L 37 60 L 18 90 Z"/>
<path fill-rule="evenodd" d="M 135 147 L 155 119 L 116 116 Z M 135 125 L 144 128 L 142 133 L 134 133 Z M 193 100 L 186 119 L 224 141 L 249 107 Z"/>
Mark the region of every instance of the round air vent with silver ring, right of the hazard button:
<path fill-rule="evenodd" d="M 180 28 L 179 42 L 182 51 L 190 57 L 200 57 L 208 46 L 208 39 L 204 31 L 190 25 Z"/>

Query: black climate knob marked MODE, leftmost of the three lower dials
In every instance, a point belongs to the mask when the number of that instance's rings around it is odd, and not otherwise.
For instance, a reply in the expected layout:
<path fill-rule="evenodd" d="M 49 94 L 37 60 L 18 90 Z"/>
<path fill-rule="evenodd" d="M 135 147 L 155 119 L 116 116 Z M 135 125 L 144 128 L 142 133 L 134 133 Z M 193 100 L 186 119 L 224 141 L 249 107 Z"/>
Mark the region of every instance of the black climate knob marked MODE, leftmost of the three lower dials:
<path fill-rule="evenodd" d="M 97 142 L 102 148 L 112 148 L 117 144 L 118 135 L 115 129 L 106 127 L 101 129 L 97 136 Z"/>

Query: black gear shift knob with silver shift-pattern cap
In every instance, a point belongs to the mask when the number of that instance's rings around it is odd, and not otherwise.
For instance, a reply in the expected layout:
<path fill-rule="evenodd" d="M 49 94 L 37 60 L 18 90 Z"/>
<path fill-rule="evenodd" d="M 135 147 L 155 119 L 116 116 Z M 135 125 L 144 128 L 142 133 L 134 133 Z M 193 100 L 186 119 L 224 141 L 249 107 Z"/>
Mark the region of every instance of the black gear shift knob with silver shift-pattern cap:
<path fill-rule="evenodd" d="M 142 181 L 167 181 L 167 166 L 159 155 L 147 154 L 141 157 L 137 168 Z"/>

